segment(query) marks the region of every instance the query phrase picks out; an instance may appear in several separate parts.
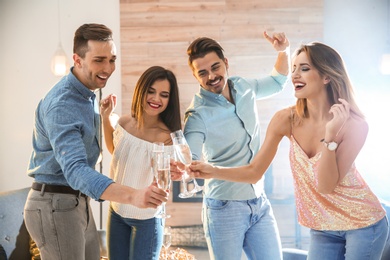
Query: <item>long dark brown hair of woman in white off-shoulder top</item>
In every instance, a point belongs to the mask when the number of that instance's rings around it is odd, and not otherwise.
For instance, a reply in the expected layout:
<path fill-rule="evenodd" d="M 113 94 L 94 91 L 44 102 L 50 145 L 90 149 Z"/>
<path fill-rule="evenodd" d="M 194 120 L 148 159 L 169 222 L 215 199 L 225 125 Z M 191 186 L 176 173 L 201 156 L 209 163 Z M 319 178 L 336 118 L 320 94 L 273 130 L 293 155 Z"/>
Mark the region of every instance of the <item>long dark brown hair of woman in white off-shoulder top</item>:
<path fill-rule="evenodd" d="M 138 79 L 135 86 L 131 115 L 137 120 L 138 127 L 143 125 L 144 101 L 149 88 L 158 80 L 168 80 L 170 91 L 167 108 L 159 115 L 171 132 L 181 129 L 179 88 L 172 71 L 160 66 L 148 68 Z"/>

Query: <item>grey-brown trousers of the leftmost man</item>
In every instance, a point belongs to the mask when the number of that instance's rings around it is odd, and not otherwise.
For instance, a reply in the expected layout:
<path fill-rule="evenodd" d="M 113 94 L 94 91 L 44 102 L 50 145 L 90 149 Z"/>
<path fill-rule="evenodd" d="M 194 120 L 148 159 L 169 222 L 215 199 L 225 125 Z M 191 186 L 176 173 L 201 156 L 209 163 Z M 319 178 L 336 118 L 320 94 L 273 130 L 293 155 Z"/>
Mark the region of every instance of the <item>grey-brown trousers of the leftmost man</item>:
<path fill-rule="evenodd" d="M 89 198 L 31 190 L 24 221 L 42 260 L 100 259 Z"/>

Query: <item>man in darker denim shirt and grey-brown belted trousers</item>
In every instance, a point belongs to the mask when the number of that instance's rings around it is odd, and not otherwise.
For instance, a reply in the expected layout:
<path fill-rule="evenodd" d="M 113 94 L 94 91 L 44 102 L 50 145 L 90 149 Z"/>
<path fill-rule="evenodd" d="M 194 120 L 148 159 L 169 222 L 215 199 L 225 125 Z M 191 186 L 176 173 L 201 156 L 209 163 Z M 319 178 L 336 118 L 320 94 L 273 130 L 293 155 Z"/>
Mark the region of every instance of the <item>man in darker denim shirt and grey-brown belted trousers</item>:
<path fill-rule="evenodd" d="M 114 183 L 94 170 L 100 155 L 95 90 L 115 70 L 112 31 L 84 24 L 74 37 L 74 66 L 39 102 L 28 175 L 35 179 L 24 209 L 27 230 L 42 259 L 100 259 L 89 197 L 156 208 L 168 194 Z"/>

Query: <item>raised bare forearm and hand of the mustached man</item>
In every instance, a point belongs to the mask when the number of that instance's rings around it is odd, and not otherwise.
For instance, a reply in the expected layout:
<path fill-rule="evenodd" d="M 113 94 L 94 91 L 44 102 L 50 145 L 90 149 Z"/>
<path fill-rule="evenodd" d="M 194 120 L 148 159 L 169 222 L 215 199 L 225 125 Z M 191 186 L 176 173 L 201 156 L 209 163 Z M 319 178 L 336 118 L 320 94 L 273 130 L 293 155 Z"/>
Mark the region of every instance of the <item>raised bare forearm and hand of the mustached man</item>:
<path fill-rule="evenodd" d="M 290 42 L 284 33 L 274 33 L 272 37 L 264 31 L 266 38 L 278 52 L 278 57 L 275 62 L 275 69 L 283 75 L 288 75 L 290 71 Z"/>

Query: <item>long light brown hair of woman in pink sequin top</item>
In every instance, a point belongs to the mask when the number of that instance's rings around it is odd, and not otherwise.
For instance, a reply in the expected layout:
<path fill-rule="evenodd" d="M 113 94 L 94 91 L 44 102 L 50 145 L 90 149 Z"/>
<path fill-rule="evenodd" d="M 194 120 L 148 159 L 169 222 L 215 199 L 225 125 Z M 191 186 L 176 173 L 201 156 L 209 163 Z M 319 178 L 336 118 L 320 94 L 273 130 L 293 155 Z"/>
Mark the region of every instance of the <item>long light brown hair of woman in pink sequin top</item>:
<path fill-rule="evenodd" d="M 293 57 L 298 56 L 302 52 L 306 53 L 310 63 L 318 70 L 321 76 L 329 77 L 330 81 L 326 91 L 330 105 L 339 103 L 339 98 L 345 99 L 350 104 L 351 112 L 364 118 L 363 113 L 356 104 L 354 89 L 340 54 L 328 45 L 320 42 L 301 45 L 295 51 Z M 310 116 L 306 98 L 298 98 L 295 109 L 300 120 Z"/>

